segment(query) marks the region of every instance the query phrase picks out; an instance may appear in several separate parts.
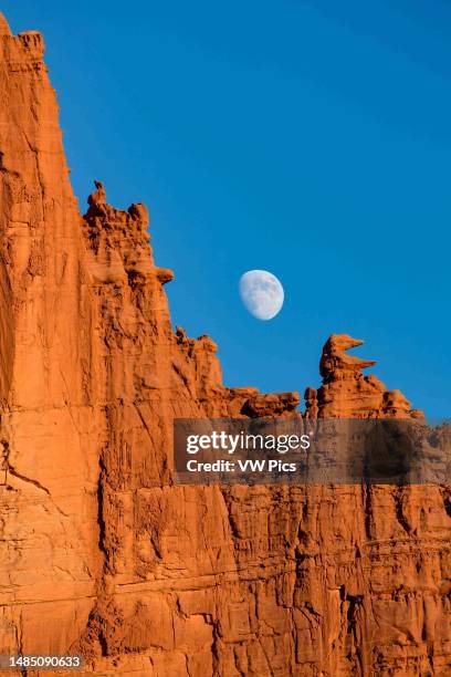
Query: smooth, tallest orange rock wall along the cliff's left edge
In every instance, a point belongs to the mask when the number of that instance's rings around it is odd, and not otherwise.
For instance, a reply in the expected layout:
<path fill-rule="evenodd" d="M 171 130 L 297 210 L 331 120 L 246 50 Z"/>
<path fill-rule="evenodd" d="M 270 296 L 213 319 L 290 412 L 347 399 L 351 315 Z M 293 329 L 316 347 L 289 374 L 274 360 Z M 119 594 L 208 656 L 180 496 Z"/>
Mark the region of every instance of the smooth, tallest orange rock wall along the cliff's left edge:
<path fill-rule="evenodd" d="M 39 33 L 0 22 L 0 645 L 62 649 L 102 565 L 92 305 Z M 97 369 L 98 372 L 98 369 Z M 94 386 L 95 387 L 95 386 Z"/>

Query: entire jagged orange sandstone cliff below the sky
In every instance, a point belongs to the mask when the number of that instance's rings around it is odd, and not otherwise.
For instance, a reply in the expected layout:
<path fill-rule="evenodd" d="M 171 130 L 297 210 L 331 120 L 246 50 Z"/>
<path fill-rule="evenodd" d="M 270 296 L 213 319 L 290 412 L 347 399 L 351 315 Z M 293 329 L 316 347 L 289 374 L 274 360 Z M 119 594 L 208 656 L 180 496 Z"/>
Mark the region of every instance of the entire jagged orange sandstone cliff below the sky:
<path fill-rule="evenodd" d="M 449 675 L 447 487 L 182 487 L 175 417 L 298 416 L 171 329 L 143 205 L 77 210 L 39 33 L 0 20 L 0 654 L 86 673 Z M 417 417 L 332 336 L 306 416 Z"/>

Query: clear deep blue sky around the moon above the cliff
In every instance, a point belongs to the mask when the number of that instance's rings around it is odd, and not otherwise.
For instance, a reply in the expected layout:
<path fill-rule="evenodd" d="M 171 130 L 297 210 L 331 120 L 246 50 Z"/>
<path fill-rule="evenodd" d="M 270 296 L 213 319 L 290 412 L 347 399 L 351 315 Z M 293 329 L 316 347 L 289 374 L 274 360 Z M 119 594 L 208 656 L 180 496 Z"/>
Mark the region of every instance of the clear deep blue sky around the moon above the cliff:
<path fill-rule="evenodd" d="M 174 324 L 210 334 L 224 383 L 319 383 L 332 332 L 449 416 L 451 6 L 3 0 L 38 29 L 75 192 L 145 201 Z M 241 305 L 262 268 L 271 322 Z"/>

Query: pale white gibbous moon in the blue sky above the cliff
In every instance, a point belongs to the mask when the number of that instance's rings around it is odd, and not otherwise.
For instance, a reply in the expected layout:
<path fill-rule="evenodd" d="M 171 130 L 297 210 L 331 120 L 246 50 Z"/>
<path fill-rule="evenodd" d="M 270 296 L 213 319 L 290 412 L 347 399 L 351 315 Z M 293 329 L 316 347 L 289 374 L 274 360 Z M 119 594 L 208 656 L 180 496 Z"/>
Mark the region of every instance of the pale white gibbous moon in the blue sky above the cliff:
<path fill-rule="evenodd" d="M 258 320 L 272 320 L 283 305 L 283 287 L 268 270 L 248 270 L 240 279 L 240 296 Z"/>

